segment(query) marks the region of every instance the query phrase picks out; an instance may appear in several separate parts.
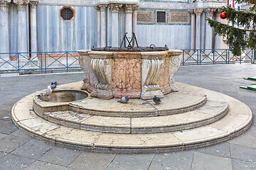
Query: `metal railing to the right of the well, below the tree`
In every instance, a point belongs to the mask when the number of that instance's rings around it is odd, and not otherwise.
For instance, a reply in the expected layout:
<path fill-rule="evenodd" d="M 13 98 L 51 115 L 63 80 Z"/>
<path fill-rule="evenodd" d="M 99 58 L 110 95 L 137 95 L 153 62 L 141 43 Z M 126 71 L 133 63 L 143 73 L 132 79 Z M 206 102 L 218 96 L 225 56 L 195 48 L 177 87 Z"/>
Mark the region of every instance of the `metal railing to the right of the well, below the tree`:
<path fill-rule="evenodd" d="M 193 49 L 182 50 L 181 65 L 254 63 L 255 50 L 242 50 L 240 56 L 234 56 L 232 49 Z"/>

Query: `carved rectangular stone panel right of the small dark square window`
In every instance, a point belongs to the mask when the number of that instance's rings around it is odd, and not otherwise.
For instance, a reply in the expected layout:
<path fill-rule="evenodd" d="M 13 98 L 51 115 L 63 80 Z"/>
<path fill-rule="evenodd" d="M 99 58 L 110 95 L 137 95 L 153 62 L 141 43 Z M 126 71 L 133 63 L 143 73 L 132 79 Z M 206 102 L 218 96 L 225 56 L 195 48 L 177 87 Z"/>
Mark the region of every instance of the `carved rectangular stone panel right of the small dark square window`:
<path fill-rule="evenodd" d="M 190 23 L 188 12 L 169 11 L 169 23 Z"/>

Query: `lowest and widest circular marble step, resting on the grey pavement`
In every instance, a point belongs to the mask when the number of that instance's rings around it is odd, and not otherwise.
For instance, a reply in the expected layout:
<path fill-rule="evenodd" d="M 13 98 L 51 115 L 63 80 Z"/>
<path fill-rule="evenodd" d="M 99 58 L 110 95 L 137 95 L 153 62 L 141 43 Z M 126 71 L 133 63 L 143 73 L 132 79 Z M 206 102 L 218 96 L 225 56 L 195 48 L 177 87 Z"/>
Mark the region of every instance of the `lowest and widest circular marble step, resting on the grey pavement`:
<path fill-rule="evenodd" d="M 228 114 L 199 128 L 151 134 L 93 132 L 50 123 L 33 111 L 32 95 L 18 101 L 11 111 L 14 124 L 26 134 L 51 145 L 92 152 L 172 152 L 214 145 L 242 134 L 252 124 L 252 112 L 244 103 L 226 96 Z"/>

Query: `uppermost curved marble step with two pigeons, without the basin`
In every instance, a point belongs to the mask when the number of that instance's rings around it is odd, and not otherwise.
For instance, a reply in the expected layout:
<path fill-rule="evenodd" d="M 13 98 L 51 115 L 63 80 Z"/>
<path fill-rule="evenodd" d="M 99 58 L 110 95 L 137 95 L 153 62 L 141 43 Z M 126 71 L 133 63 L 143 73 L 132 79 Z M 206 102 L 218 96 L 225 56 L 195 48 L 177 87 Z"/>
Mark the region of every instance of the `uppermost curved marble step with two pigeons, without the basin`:
<path fill-rule="evenodd" d="M 118 103 L 119 98 L 102 101 L 99 98 L 87 97 L 83 101 L 69 104 L 69 110 L 90 115 L 110 117 L 138 118 L 157 115 L 173 115 L 193 111 L 203 106 L 207 97 L 202 93 L 183 94 L 172 93 L 164 96 L 161 104 L 156 105 L 152 100 L 130 99 L 128 103 Z"/>

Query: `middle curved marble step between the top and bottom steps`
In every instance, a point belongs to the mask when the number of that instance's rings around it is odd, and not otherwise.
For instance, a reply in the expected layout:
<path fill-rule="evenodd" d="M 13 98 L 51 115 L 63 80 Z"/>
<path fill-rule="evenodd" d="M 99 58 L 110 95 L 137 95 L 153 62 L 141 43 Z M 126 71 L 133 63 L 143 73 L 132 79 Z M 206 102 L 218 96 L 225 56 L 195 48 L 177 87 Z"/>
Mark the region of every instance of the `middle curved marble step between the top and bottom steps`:
<path fill-rule="evenodd" d="M 228 103 L 208 101 L 206 105 L 194 111 L 145 118 L 120 118 L 101 115 L 88 115 L 73 111 L 58 111 L 44 114 L 52 123 L 70 128 L 114 133 L 156 133 L 172 132 L 196 128 L 213 123 L 228 113 Z"/>

